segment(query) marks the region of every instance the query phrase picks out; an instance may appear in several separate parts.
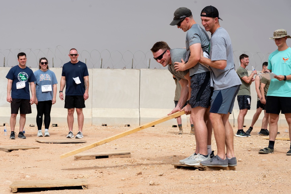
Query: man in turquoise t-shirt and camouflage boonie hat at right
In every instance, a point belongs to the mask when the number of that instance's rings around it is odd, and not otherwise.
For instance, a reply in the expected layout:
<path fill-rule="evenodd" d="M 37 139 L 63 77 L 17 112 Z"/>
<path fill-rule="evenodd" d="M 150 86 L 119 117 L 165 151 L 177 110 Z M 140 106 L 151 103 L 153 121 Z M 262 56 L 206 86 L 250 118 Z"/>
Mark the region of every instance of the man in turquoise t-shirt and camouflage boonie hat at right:
<path fill-rule="evenodd" d="M 288 38 L 291 37 L 284 29 L 275 30 L 274 37 L 270 38 L 278 47 L 268 59 L 268 70 L 276 74 L 274 76 L 276 79 L 271 79 L 267 92 L 266 113 L 269 113 L 270 118 L 269 146 L 261 149 L 259 154 L 274 153 L 280 111 L 285 114 L 291 138 L 291 48 L 286 43 Z M 286 155 L 291 155 L 291 145 Z"/>

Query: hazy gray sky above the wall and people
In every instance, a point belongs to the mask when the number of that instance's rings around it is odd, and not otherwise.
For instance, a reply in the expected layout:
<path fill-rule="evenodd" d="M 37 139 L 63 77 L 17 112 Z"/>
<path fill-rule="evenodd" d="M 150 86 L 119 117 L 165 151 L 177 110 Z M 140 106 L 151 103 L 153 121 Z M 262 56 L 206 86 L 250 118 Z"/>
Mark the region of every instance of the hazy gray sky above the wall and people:
<path fill-rule="evenodd" d="M 1 2 L 0 51 L 55 50 L 61 45 L 60 52 L 77 48 L 146 53 L 161 40 L 171 48 L 182 48 L 186 32 L 169 25 L 174 11 L 189 8 L 201 25 L 200 12 L 208 5 L 218 9 L 235 55 L 273 52 L 276 45 L 269 37 L 276 29 L 291 35 L 290 0 L 13 0 Z M 287 44 L 291 46 L 291 41 Z"/>

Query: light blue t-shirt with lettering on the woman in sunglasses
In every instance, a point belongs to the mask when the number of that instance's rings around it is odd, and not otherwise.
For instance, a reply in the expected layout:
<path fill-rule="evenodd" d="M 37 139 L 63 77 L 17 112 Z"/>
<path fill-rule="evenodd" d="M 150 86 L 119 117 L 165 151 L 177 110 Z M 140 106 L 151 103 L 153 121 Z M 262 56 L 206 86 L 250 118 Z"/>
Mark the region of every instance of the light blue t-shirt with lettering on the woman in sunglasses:
<path fill-rule="evenodd" d="M 53 99 L 53 85 L 57 84 L 58 81 L 56 79 L 56 75 L 51 70 L 47 70 L 43 72 L 42 70 L 36 70 L 34 72 L 36 77 L 36 98 L 38 101 L 47 101 Z M 52 91 L 42 92 L 41 87 L 44 85 L 51 85 Z"/>

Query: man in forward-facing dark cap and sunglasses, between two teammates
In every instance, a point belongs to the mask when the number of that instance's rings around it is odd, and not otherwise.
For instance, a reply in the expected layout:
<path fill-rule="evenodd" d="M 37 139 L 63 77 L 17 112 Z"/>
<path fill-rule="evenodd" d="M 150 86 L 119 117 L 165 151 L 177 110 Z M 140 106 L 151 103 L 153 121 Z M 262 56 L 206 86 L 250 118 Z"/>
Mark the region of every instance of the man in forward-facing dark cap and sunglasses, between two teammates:
<path fill-rule="evenodd" d="M 212 126 L 209 122 L 209 109 L 207 110 L 210 106 L 212 93 L 210 70 L 198 63 L 201 48 L 204 52 L 208 53 L 209 37 L 207 32 L 194 21 L 192 12 L 185 7 L 178 8 L 175 11 L 174 19 L 170 25 L 177 25 L 178 28 L 187 32 L 187 56 L 185 62 L 183 59 L 181 62 L 176 61 L 174 67 L 176 71 L 189 69 L 189 75 L 191 76 L 191 97 L 189 104 L 191 105 L 191 119 L 195 127 L 196 150 L 189 157 L 180 160 L 180 163 L 195 166 L 199 165 L 201 161 L 210 159 L 212 154 Z M 177 111 L 179 110 L 174 109 L 169 114 Z M 186 114 L 190 114 L 190 112 L 186 112 Z M 210 141 L 207 141 L 207 137 L 210 137 Z"/>

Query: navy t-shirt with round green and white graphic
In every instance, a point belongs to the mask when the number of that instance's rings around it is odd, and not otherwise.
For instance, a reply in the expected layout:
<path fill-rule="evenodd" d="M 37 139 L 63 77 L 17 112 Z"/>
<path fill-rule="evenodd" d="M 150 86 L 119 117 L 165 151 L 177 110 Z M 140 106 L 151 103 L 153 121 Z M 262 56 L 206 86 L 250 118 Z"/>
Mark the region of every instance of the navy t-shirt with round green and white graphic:
<path fill-rule="evenodd" d="M 18 65 L 12 67 L 6 75 L 7 79 L 13 80 L 11 88 L 11 97 L 19 99 L 30 99 L 29 93 L 29 83 L 36 81 L 36 77 L 33 71 L 26 67 L 24 69 L 20 68 Z M 24 88 L 16 88 L 16 83 L 19 81 L 25 81 Z"/>

